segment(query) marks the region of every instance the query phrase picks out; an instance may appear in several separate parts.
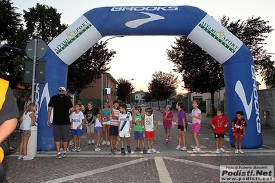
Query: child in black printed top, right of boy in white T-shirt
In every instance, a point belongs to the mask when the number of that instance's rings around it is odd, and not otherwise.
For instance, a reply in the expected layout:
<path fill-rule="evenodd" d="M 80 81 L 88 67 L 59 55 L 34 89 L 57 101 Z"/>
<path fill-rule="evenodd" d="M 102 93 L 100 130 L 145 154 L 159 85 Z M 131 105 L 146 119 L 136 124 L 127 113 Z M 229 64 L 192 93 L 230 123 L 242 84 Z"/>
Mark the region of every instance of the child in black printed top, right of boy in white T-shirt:
<path fill-rule="evenodd" d="M 88 109 L 84 111 L 88 144 L 94 144 L 94 117 L 92 116 L 92 102 L 88 102 Z"/>

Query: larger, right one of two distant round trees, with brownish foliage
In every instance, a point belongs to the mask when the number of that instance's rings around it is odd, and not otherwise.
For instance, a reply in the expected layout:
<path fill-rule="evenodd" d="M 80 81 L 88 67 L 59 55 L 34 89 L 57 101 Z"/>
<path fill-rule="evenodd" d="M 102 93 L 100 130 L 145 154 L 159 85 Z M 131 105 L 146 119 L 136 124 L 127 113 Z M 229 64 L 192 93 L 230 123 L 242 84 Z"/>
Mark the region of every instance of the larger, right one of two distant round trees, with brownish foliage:
<path fill-rule="evenodd" d="M 164 99 L 167 103 L 167 99 L 175 92 L 179 85 L 179 78 L 170 73 L 155 72 L 153 74 L 151 83 L 149 83 L 148 91 L 152 94 L 152 97 L 159 101 Z M 159 106 L 160 109 L 160 106 Z"/>

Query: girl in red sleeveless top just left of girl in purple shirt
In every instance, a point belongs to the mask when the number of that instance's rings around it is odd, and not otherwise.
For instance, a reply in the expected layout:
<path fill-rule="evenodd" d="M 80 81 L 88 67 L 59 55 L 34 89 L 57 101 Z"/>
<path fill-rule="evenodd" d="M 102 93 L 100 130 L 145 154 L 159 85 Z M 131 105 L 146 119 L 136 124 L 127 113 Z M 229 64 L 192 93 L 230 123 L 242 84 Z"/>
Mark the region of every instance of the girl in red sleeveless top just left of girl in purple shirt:
<path fill-rule="evenodd" d="M 172 119 L 174 118 L 174 114 L 172 113 L 172 106 L 166 105 L 165 111 L 163 113 L 163 127 L 166 133 L 165 143 L 170 141 L 170 129 L 172 127 Z"/>

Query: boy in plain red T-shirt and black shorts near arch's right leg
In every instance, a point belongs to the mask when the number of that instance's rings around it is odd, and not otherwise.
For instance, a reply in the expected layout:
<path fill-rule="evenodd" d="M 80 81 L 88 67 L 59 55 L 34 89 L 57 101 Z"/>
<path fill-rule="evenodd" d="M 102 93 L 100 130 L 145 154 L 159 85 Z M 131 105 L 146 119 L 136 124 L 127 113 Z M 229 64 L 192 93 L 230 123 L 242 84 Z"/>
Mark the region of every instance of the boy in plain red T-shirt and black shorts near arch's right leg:
<path fill-rule="evenodd" d="M 220 153 L 220 151 L 225 153 L 225 149 L 223 149 L 223 138 L 225 137 L 225 128 L 228 126 L 228 120 L 223 116 L 223 112 L 223 108 L 218 108 L 216 116 L 214 116 L 210 122 L 214 129 L 216 153 Z"/>

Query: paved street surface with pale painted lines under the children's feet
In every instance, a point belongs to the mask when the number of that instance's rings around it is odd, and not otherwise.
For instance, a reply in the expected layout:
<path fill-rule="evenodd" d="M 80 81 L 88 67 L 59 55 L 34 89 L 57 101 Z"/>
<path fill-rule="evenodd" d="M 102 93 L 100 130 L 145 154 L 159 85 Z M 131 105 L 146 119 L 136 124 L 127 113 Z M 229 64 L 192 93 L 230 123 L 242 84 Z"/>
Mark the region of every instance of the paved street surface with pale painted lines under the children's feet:
<path fill-rule="evenodd" d="M 162 110 L 154 109 L 159 119 Z M 14 151 L 8 151 L 6 142 L 2 142 L 1 147 L 7 154 L 3 161 L 5 182 L 219 182 L 220 165 L 275 164 L 274 144 L 270 145 L 270 149 L 245 149 L 244 155 L 235 154 L 227 141 L 228 136 L 225 136 L 227 140 L 224 140 L 223 146 L 226 153 L 216 154 L 213 131 L 207 127 L 210 118 L 203 118 L 205 120 L 198 137 L 202 150 L 199 154 L 192 152 L 194 142 L 189 127 L 186 134 L 187 151 L 176 151 L 176 129 L 171 130 L 171 140 L 166 144 L 161 120 L 154 139 L 157 152 L 151 154 L 134 152 L 134 136 L 131 137 L 132 153 L 127 155 L 121 155 L 120 152 L 110 155 L 107 145 L 101 145 L 101 151 L 94 151 L 94 145 L 87 144 L 87 136 L 83 133 L 79 153 L 70 151 L 67 158 L 57 159 L 56 151 L 41 151 L 34 160 L 23 161 L 17 160 L 19 139 L 11 140 Z M 264 131 L 263 134 L 266 133 Z M 269 138 L 272 138 L 272 134 L 274 131 L 269 131 Z"/>

